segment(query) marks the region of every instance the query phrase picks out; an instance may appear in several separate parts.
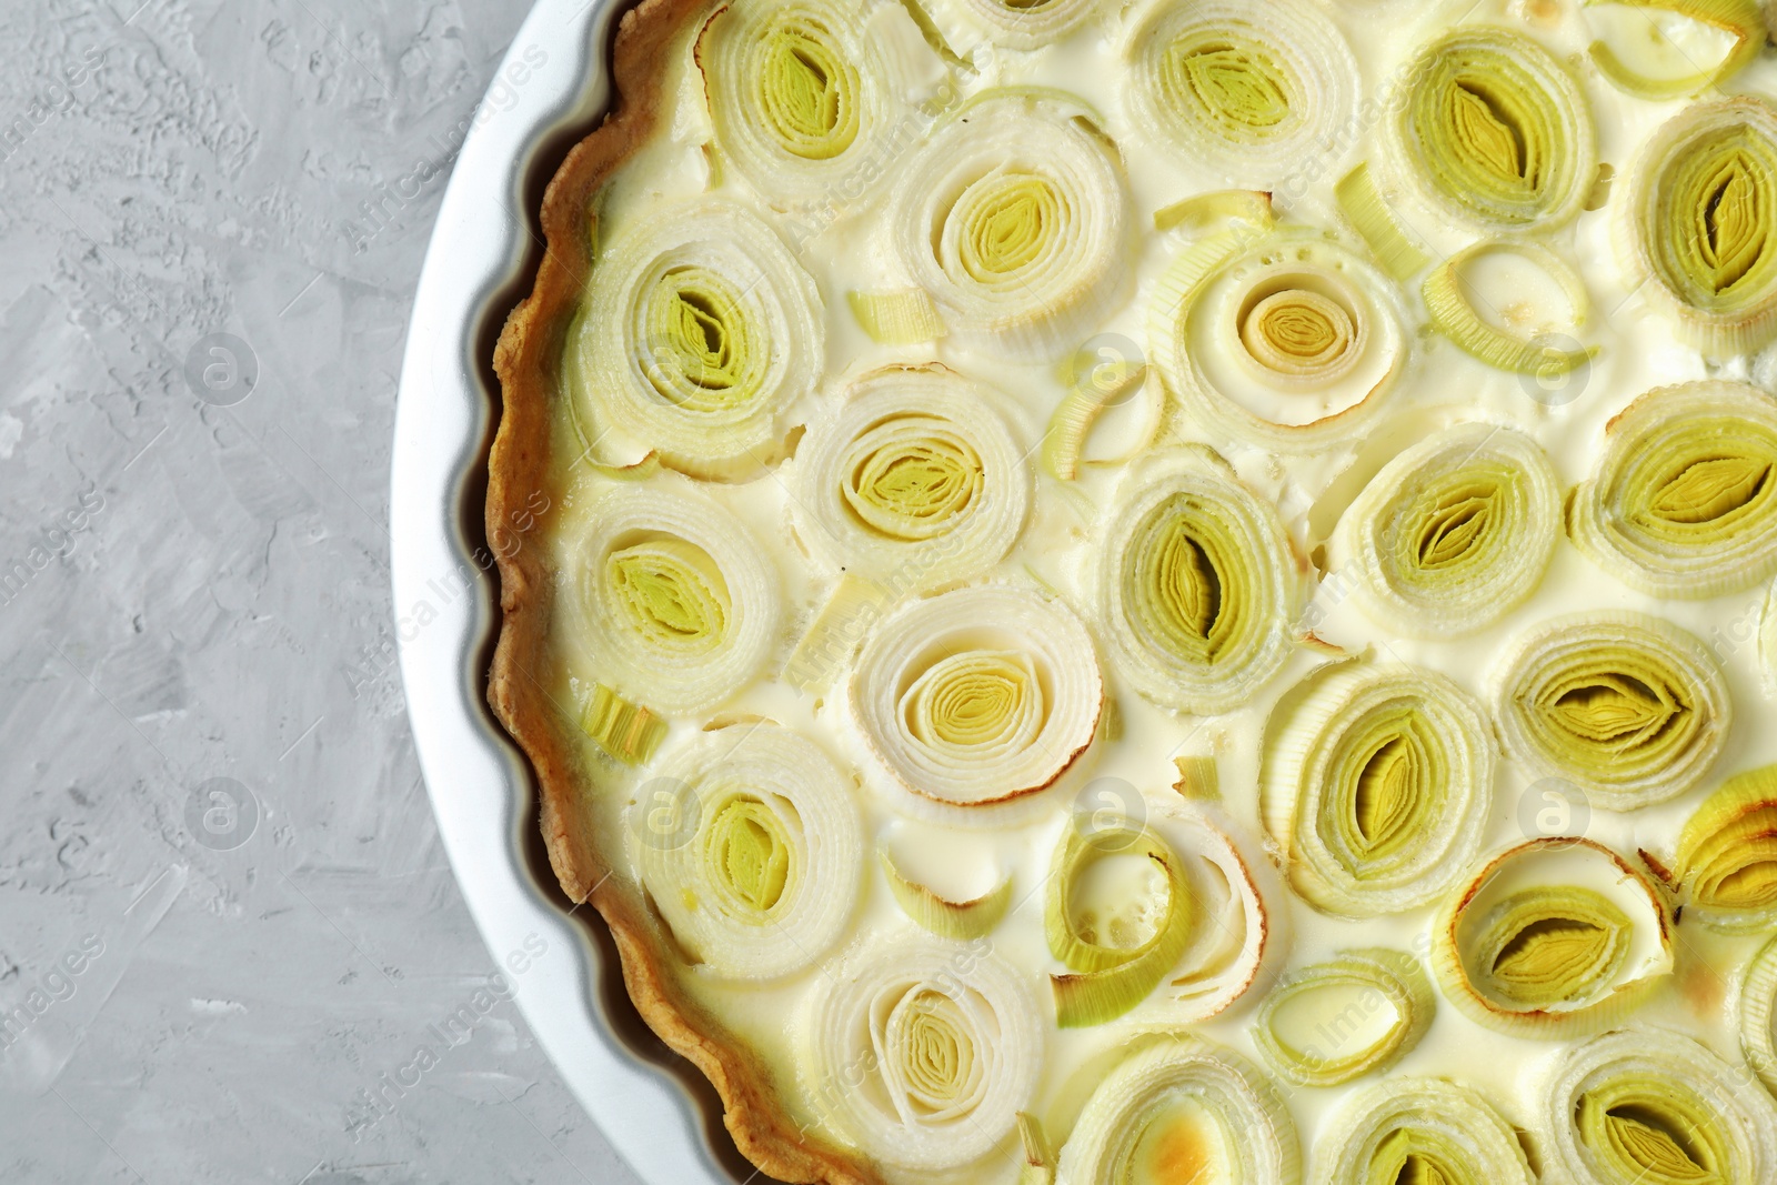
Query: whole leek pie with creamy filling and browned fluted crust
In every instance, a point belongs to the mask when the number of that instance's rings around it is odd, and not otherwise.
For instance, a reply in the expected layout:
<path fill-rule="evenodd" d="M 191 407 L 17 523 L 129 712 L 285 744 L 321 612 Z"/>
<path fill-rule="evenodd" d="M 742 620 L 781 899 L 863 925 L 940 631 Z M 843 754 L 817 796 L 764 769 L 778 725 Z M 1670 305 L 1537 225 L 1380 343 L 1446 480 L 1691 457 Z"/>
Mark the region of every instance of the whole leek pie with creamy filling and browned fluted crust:
<path fill-rule="evenodd" d="M 1777 1180 L 1752 0 L 643 0 L 489 698 L 787 1181 Z"/>

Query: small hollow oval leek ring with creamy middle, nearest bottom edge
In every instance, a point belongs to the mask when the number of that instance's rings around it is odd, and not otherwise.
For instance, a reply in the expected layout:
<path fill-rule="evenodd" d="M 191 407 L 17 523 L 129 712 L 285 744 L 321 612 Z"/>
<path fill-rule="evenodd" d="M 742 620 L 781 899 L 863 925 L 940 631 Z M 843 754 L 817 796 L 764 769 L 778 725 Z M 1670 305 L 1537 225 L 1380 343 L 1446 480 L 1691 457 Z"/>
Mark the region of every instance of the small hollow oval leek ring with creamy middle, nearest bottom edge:
<path fill-rule="evenodd" d="M 1285 1080 L 1340 1086 L 1411 1054 L 1436 1009 L 1430 981 L 1413 956 L 1343 950 L 1272 988 L 1258 1009 L 1253 1041 Z"/>

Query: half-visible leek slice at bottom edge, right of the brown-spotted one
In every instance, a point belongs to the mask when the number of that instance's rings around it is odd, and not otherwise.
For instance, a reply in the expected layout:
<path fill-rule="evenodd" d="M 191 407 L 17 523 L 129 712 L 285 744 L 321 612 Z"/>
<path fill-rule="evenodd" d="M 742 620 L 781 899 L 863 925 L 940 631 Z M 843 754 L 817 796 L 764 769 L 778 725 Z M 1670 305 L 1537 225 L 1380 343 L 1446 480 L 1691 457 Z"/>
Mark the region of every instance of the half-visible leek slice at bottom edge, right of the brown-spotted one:
<path fill-rule="evenodd" d="M 1475 1091 L 1390 1078 L 1331 1117 L 1315 1185 L 1535 1185 L 1518 1132 Z"/>

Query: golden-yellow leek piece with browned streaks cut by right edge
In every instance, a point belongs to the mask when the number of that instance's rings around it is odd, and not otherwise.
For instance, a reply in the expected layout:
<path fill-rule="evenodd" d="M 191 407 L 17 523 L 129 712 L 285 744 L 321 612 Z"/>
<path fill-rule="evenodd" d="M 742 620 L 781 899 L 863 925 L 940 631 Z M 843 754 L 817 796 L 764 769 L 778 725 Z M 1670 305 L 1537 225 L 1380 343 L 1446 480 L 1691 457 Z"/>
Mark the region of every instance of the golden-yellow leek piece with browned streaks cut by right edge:
<path fill-rule="evenodd" d="M 1685 920 L 1736 934 L 1777 922 L 1777 766 L 1729 778 L 1677 837 Z"/>

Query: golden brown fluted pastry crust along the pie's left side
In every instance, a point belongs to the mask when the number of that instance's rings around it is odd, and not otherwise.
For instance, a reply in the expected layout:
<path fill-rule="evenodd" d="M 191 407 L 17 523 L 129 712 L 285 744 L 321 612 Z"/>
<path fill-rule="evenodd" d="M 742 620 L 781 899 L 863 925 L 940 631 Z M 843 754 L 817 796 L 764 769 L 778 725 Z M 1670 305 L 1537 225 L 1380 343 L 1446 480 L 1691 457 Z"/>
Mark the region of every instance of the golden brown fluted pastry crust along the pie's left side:
<path fill-rule="evenodd" d="M 537 771 L 544 842 L 562 890 L 599 910 L 622 958 L 629 998 L 716 1087 L 736 1148 L 785 1181 L 876 1185 L 881 1178 L 869 1164 L 798 1132 L 764 1062 L 691 998 L 668 934 L 641 894 L 626 878 L 610 876 L 601 855 L 606 837 L 576 808 L 588 778 L 567 734 L 574 725 L 533 675 L 551 670 L 553 577 L 540 551 L 512 533 L 521 522 L 535 529 L 535 494 L 549 489 L 551 405 L 562 391 L 567 327 L 592 270 L 597 199 L 654 130 L 668 48 L 709 7 L 711 0 L 641 0 L 622 16 L 611 53 L 611 108 L 569 151 L 544 192 L 546 247 L 537 282 L 506 318 L 494 350 L 503 407 L 487 465 L 487 533 L 499 561 L 503 625 L 487 700 Z"/>

